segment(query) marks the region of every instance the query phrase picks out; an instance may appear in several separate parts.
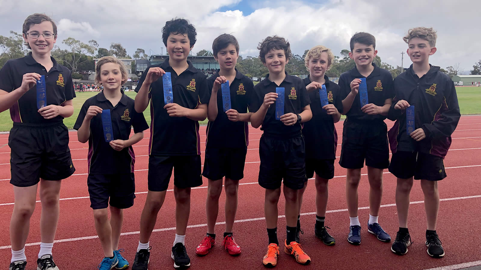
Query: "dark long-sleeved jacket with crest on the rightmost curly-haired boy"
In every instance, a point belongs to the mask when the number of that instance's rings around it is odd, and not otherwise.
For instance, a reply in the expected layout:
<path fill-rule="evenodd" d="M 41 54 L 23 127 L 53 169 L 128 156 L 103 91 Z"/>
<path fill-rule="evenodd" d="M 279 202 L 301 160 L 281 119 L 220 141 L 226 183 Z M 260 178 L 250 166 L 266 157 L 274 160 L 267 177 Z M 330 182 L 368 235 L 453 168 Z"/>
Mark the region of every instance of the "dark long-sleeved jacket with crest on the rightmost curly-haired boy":
<path fill-rule="evenodd" d="M 451 146 L 451 134 L 456 129 L 461 114 L 454 82 L 431 66 L 421 78 L 413 71 L 413 65 L 394 79 L 395 97 L 388 112 L 388 119 L 396 121 L 388 137 L 392 153 L 396 151 L 419 151 L 444 157 Z M 399 100 L 414 105 L 415 130 L 422 128 L 426 138 L 417 142 L 407 135 L 405 110 L 395 110 Z"/>

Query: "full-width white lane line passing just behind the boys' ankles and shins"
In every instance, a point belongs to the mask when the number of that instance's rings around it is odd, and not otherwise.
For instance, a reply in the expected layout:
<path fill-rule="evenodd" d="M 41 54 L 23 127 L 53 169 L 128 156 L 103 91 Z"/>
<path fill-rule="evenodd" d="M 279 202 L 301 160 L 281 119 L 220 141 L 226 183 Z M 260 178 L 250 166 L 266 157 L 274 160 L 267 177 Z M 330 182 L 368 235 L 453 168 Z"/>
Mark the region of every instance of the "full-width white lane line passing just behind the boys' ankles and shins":
<path fill-rule="evenodd" d="M 464 196 L 464 197 L 444 198 L 444 199 L 440 199 L 440 201 L 463 200 L 463 199 L 480 198 L 480 197 L 481 197 L 481 195 Z M 410 202 L 409 204 L 420 204 L 420 203 L 424 203 L 424 201 L 414 201 L 414 202 Z M 396 204 L 384 204 L 384 205 L 381 205 L 381 207 L 393 207 L 393 206 L 396 206 Z M 358 208 L 358 209 L 359 209 L 359 210 L 369 209 L 369 207 L 368 207 L 368 206 L 366 206 L 366 207 L 360 207 L 360 208 Z M 337 212 L 347 212 L 347 209 L 336 209 L 336 210 L 328 210 L 328 211 L 326 211 L 326 213 L 337 213 Z M 301 213 L 301 216 L 315 215 L 315 214 L 316 214 L 316 212 Z M 285 217 L 286 217 L 285 215 L 279 215 L 279 216 L 278 216 L 279 219 L 285 218 Z M 234 223 L 251 222 L 251 221 L 262 221 L 262 220 L 265 220 L 265 219 L 266 219 L 265 217 L 260 217 L 260 218 L 252 218 L 252 219 L 245 219 L 245 220 L 236 220 L 236 221 L 234 221 Z M 226 224 L 226 222 L 225 222 L 225 221 L 215 222 L 215 225 L 222 225 L 222 224 Z M 187 228 L 199 228 L 199 227 L 207 227 L 207 224 L 206 224 L 206 223 L 203 223 L 203 224 L 195 224 L 195 225 L 189 225 L 189 226 L 187 226 Z M 175 227 L 154 229 L 154 230 L 152 231 L 152 233 L 165 232 L 165 231 L 174 231 L 175 229 L 176 229 Z M 140 233 L 139 231 L 136 231 L 136 232 L 121 233 L 120 235 L 130 235 L 130 234 L 139 234 L 139 233 Z M 73 241 L 89 240 L 89 239 L 96 239 L 96 238 L 99 238 L 99 236 L 97 236 L 97 235 L 92 235 L 92 236 L 84 236 L 84 237 L 76 237 L 76 238 L 59 239 L 59 240 L 55 240 L 55 241 L 53 241 L 53 242 L 54 242 L 54 243 L 73 242 Z M 27 244 L 25 244 L 25 246 L 31 246 L 31 245 L 40 245 L 40 242 L 37 242 L 37 243 L 27 243 Z M 12 246 L 11 246 L 11 245 L 3 245 L 3 246 L 0 246 L 0 249 L 7 249 L 7 248 L 12 248 Z"/>

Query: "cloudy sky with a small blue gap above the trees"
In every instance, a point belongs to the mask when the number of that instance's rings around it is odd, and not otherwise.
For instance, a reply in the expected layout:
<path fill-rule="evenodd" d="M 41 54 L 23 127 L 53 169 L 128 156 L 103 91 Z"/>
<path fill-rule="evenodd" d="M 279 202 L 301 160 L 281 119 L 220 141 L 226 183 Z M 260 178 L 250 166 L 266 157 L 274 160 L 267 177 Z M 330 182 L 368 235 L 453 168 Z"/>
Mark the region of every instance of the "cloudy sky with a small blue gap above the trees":
<path fill-rule="evenodd" d="M 160 54 L 161 29 L 177 16 L 197 29 L 194 53 L 212 50 L 215 37 L 230 33 L 244 57 L 257 56 L 258 42 L 270 35 L 286 37 L 293 54 L 325 45 L 339 55 L 349 49 L 351 36 L 363 31 L 376 37 L 381 60 L 396 66 L 407 49 L 402 40 L 407 30 L 428 26 L 438 31 L 432 64 L 459 63 L 468 74 L 481 59 L 480 0 L 0 0 L 0 6 L 0 35 L 22 32 L 26 16 L 45 12 L 57 22 L 61 48 L 66 37 L 95 39 L 103 48 L 120 42 L 131 56 L 137 48 Z M 405 55 L 404 67 L 410 64 Z"/>

